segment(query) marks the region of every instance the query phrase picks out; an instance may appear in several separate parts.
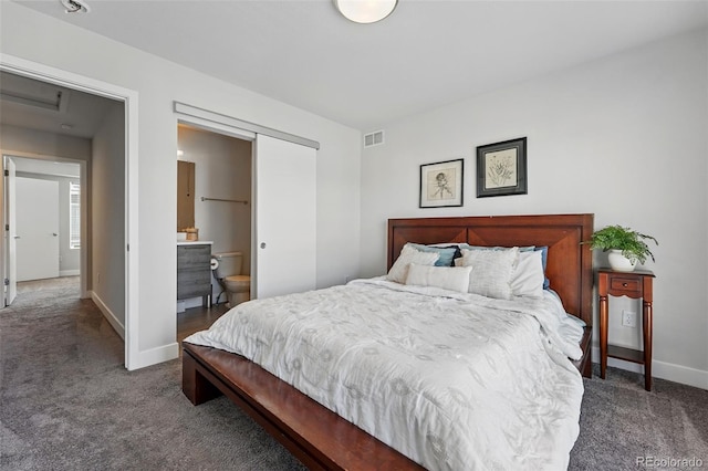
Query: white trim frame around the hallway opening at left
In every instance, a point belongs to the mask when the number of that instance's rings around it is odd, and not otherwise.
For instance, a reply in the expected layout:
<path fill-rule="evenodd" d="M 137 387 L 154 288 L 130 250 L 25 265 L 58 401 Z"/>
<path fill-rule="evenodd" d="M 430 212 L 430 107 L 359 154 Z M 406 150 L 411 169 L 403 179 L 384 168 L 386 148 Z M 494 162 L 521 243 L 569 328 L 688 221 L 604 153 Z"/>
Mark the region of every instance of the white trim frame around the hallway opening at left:
<path fill-rule="evenodd" d="M 124 104 L 125 116 L 125 367 L 129 370 L 147 366 L 149 358 L 140 359 L 139 350 L 139 282 L 138 282 L 138 93 L 112 83 L 79 75 L 61 69 L 28 61 L 10 54 L 0 54 L 0 70 L 48 82 Z M 2 149 L 12 154 L 12 149 Z M 83 184 L 83 181 L 82 181 Z M 2 192 L 0 191 L 0 198 Z M 4 201 L 0 208 L 4 214 Z M 4 245 L 4 244 L 2 244 Z M 6 263 L 2 249 L 1 263 Z M 84 266 L 82 266 L 84 270 Z M 146 363 L 147 362 L 147 363 Z"/>

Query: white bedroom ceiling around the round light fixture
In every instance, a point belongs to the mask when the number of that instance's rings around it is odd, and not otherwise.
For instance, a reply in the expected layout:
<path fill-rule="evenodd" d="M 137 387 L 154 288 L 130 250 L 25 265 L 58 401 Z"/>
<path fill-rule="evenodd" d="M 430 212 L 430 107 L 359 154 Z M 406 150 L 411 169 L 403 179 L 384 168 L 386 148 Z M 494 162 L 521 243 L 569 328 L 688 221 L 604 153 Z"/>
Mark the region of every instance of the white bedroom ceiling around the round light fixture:
<path fill-rule="evenodd" d="M 708 24 L 702 0 L 399 0 L 367 25 L 330 0 L 15 1 L 364 132 Z"/>

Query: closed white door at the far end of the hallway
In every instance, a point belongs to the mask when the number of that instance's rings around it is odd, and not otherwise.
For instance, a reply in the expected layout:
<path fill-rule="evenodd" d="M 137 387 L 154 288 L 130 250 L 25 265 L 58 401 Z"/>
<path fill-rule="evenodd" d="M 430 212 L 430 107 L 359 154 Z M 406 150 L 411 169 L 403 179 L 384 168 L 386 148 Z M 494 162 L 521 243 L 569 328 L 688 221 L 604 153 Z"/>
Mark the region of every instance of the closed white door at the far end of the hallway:
<path fill-rule="evenodd" d="M 18 281 L 59 276 L 59 181 L 15 178 Z"/>

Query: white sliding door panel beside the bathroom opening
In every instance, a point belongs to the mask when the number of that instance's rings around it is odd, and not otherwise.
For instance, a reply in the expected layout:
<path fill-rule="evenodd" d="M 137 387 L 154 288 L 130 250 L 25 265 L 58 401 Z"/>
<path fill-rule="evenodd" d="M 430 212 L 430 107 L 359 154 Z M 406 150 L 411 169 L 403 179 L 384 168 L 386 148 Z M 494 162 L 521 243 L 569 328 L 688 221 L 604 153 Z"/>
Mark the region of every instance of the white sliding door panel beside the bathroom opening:
<path fill-rule="evenodd" d="M 316 284 L 316 150 L 257 135 L 254 147 L 254 297 Z"/>

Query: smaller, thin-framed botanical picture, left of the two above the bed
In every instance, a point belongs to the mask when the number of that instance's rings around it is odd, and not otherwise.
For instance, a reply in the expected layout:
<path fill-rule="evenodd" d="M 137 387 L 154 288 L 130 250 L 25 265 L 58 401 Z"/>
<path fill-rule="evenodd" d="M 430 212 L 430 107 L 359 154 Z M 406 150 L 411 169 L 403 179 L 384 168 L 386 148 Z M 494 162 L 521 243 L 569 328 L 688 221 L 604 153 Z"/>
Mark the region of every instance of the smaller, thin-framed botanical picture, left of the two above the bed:
<path fill-rule="evenodd" d="M 462 206 L 465 160 L 447 160 L 420 166 L 420 208 Z"/>

